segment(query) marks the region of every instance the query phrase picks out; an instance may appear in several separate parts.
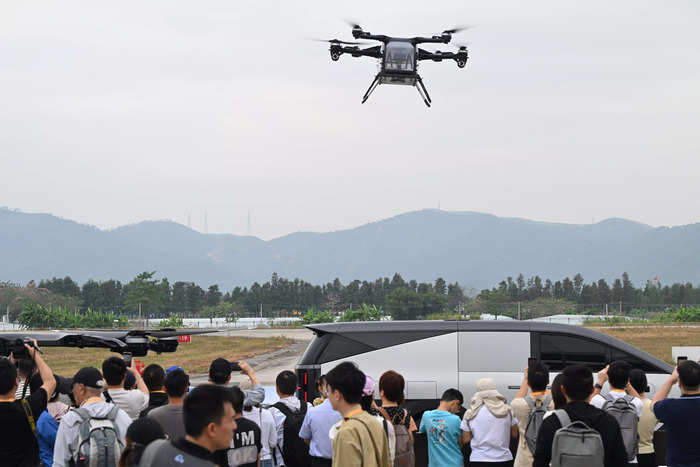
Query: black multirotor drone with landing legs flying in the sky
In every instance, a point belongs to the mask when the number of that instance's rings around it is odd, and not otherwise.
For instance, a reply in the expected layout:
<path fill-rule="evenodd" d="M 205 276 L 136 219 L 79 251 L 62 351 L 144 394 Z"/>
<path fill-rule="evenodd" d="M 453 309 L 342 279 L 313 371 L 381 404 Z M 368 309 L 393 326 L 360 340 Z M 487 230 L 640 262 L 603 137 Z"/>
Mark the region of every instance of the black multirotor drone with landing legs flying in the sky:
<path fill-rule="evenodd" d="M 432 37 L 390 37 L 380 34 L 371 34 L 363 31 L 359 24 L 351 24 L 352 37 L 355 39 L 368 39 L 379 41 L 382 44 L 361 49 L 359 46 L 368 42 L 345 42 L 338 39 L 320 40 L 330 42 L 331 60 L 337 61 L 341 55 L 350 54 L 353 57 L 373 57 L 379 59 L 379 73 L 374 77 L 369 89 L 362 98 L 364 104 L 369 96 L 380 84 L 398 84 L 415 86 L 423 98 L 425 105 L 430 107 L 432 100 L 425 89 L 425 84 L 418 74 L 418 62 L 420 60 L 454 60 L 457 66 L 464 68 L 469 59 L 466 45 L 459 45 L 457 52 L 431 52 L 418 47 L 419 44 L 449 44 L 452 34 L 467 29 L 465 27 L 447 29 L 440 35 Z M 319 39 L 317 39 L 319 40 Z"/>

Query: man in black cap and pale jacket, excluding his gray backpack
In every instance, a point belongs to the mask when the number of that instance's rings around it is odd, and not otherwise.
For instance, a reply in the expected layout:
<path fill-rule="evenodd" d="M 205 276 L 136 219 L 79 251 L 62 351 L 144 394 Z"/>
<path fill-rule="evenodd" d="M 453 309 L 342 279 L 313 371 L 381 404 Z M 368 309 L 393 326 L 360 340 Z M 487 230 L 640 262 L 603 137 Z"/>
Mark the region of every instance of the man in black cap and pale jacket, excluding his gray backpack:
<path fill-rule="evenodd" d="M 56 444 L 53 450 L 54 467 L 75 465 L 77 457 L 82 454 L 81 424 L 91 418 L 109 420 L 112 415 L 111 427 L 116 431 L 121 449 L 126 445 L 126 430 L 131 425 L 131 417 L 115 404 L 102 399 L 105 382 L 97 368 L 84 367 L 73 376 L 73 398 L 79 410 L 71 410 L 61 418 L 56 433 Z M 112 410 L 116 409 L 115 412 Z M 82 414 L 81 414 L 82 412 Z M 86 418 L 83 417 L 86 415 Z M 84 447 L 83 447 L 84 449 Z M 117 460 L 118 455 L 117 454 Z M 96 460 L 95 460 L 96 461 Z"/>

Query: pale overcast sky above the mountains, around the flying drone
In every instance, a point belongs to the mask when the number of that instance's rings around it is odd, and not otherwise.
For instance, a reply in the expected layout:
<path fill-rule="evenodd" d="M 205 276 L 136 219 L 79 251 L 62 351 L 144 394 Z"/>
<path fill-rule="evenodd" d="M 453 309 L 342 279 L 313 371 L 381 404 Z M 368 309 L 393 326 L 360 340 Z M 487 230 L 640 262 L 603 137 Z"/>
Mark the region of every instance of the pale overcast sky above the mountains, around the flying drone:
<path fill-rule="evenodd" d="M 700 3 L 0 2 L 0 205 L 271 238 L 436 208 L 590 223 L 700 212 Z M 309 37 L 458 24 L 428 109 Z M 430 47 L 427 47 L 430 48 Z M 442 46 L 443 50 L 448 50 Z"/>

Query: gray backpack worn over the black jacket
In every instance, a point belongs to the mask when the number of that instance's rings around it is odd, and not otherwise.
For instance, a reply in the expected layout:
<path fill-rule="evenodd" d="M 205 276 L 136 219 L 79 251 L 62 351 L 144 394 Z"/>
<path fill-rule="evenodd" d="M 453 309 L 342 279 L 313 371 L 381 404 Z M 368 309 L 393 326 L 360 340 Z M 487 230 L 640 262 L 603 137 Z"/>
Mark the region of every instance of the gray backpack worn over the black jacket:
<path fill-rule="evenodd" d="M 604 448 L 600 433 L 584 422 L 571 422 L 569 414 L 554 412 L 561 423 L 552 442 L 552 467 L 603 467 Z"/>

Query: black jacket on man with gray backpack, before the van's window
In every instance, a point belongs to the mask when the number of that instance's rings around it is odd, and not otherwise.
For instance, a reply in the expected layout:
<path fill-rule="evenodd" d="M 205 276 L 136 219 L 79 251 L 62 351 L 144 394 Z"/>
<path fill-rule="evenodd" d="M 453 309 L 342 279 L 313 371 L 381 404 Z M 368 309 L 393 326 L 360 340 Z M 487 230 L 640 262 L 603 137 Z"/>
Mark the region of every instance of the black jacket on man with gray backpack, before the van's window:
<path fill-rule="evenodd" d="M 564 406 L 571 421 L 580 420 L 600 433 L 605 448 L 605 467 L 623 467 L 627 465 L 627 451 L 622 440 L 620 426 L 612 415 L 593 407 L 587 402 L 571 402 Z M 542 421 L 537 434 L 535 462 L 533 467 L 548 467 L 552 459 L 552 442 L 554 433 L 561 428 L 559 418 L 552 414 Z"/>

